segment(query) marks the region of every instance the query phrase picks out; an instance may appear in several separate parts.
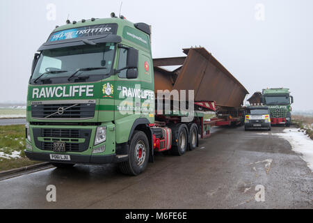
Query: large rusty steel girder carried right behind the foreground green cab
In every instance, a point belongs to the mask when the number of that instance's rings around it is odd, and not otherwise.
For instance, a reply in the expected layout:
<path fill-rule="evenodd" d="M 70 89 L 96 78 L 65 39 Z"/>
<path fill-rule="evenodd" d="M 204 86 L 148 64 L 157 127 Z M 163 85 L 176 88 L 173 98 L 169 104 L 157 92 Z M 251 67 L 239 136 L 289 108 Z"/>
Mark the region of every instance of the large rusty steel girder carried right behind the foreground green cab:
<path fill-rule="evenodd" d="M 195 101 L 215 101 L 220 107 L 240 107 L 246 88 L 204 47 L 183 49 L 186 57 L 154 59 L 154 91 L 194 90 Z M 182 65 L 169 71 L 159 66 Z"/>

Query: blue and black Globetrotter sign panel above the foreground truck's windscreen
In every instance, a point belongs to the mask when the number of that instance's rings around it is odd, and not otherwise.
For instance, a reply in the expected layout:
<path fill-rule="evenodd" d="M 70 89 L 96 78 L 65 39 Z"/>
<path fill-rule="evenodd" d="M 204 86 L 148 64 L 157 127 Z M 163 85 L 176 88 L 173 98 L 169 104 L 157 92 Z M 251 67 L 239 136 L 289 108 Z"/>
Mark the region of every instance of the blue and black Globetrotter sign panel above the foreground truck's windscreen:
<path fill-rule="evenodd" d="M 51 33 L 48 42 L 58 40 L 67 40 L 72 38 L 81 38 L 85 36 L 97 36 L 104 34 L 116 34 L 118 31 L 118 24 L 101 24 L 95 26 L 83 26 L 75 29 L 66 29 Z"/>

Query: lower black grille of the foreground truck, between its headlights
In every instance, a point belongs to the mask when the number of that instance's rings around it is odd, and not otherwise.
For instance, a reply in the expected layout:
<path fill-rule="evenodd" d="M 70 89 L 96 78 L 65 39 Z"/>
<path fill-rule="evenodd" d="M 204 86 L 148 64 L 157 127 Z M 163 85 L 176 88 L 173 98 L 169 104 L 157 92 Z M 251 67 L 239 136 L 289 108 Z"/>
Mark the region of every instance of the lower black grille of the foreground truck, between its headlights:
<path fill-rule="evenodd" d="M 54 141 L 65 141 L 65 151 L 83 152 L 89 147 L 90 136 L 91 130 L 33 128 L 35 146 L 43 151 L 53 151 Z"/>

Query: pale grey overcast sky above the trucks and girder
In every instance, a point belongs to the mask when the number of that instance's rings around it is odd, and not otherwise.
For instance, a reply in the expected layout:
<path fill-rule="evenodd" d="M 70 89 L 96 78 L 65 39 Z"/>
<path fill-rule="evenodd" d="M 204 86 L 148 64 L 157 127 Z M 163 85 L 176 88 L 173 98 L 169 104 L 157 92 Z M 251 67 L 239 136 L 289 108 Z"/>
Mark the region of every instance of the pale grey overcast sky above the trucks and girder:
<path fill-rule="evenodd" d="M 0 102 L 26 102 L 31 61 L 56 25 L 118 14 L 121 1 L 1 0 Z M 313 109 L 313 1 L 122 0 L 122 15 L 152 25 L 152 56 L 205 47 L 250 92 L 287 87 Z M 54 9 L 55 12 L 54 13 Z"/>

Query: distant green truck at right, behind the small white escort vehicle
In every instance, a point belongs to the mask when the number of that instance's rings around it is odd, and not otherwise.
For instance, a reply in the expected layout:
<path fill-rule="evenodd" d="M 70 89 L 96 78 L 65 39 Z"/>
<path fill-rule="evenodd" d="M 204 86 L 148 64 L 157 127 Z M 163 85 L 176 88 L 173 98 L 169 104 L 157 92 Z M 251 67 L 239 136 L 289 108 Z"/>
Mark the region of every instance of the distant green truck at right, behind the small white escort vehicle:
<path fill-rule="evenodd" d="M 267 105 L 270 111 L 272 125 L 290 125 L 291 104 L 294 103 L 294 97 L 290 95 L 289 89 L 263 89 L 262 103 Z"/>

